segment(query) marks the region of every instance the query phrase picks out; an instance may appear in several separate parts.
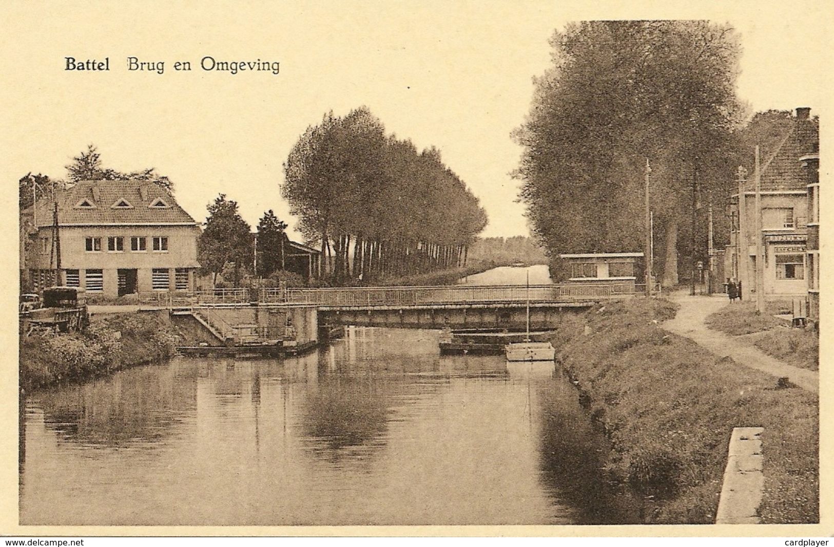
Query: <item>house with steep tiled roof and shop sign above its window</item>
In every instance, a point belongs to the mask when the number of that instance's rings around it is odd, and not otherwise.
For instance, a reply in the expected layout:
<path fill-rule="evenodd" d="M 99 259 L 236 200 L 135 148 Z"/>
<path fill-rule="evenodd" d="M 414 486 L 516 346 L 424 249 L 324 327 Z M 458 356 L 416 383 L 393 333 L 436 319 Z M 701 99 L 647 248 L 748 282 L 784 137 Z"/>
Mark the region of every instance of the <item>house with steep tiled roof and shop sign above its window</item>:
<path fill-rule="evenodd" d="M 807 278 L 813 275 L 808 269 L 813 265 L 807 263 L 806 252 L 808 172 L 800 158 L 818 150 L 819 121 L 811 118 L 810 108 L 797 108 L 790 130 L 769 157 L 761 160 L 761 211 L 756 210 L 753 166 L 740 170 L 738 191 L 731 196 L 731 244 L 725 271 L 741 281 L 742 299 L 755 296 L 759 268 L 766 300 L 807 295 Z M 761 257 L 756 256 L 757 238 L 761 238 Z"/>

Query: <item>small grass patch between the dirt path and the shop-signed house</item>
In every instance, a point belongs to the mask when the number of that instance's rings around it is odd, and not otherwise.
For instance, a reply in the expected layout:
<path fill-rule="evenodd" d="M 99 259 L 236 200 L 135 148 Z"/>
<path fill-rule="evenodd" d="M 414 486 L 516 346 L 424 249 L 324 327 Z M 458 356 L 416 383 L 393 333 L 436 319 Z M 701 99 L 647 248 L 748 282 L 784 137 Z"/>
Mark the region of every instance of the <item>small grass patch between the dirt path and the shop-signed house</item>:
<path fill-rule="evenodd" d="M 788 365 L 819 370 L 819 331 L 791 327 L 775 314 L 791 313 L 790 302 L 768 302 L 756 313 L 752 302 L 727 304 L 706 318 L 706 326 L 756 346 Z"/>

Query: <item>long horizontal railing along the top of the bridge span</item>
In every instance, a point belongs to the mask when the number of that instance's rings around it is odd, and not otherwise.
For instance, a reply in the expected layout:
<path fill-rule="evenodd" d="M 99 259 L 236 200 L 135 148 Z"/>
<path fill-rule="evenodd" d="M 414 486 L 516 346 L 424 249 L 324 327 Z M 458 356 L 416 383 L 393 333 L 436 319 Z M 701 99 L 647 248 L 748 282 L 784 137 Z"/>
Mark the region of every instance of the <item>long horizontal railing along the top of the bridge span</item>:
<path fill-rule="evenodd" d="M 419 306 L 478 302 L 585 301 L 634 294 L 625 284 L 562 284 L 526 286 L 413 286 L 289 288 L 273 297 L 288 304 L 318 306 Z"/>

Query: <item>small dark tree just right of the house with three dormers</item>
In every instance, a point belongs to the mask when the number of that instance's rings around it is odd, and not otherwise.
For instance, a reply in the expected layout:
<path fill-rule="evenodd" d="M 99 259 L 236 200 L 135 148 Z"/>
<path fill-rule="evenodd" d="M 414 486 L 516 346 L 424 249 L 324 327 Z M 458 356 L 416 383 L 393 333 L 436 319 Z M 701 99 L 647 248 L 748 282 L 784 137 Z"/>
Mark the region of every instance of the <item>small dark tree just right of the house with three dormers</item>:
<path fill-rule="evenodd" d="M 211 272 L 213 283 L 229 262 L 234 262 L 234 286 L 240 285 L 241 270 L 252 263 L 253 238 L 249 224 L 238 211 L 238 202 L 225 194 L 208 204 L 208 218 L 198 239 L 198 256 L 203 270 Z"/>

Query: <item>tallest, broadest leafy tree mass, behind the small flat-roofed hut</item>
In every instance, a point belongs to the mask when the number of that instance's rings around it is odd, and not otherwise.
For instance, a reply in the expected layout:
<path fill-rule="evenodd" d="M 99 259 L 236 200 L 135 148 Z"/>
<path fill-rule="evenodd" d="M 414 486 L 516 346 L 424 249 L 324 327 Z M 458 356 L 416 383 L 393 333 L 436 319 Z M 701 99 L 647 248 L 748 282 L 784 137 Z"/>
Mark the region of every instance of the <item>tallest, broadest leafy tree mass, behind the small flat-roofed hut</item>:
<path fill-rule="evenodd" d="M 533 231 L 551 256 L 640 249 L 648 158 L 657 262 L 676 271 L 678 251 L 699 251 L 686 223 L 695 178 L 716 196 L 732 180 L 736 32 L 703 21 L 596 21 L 569 24 L 550 43 L 553 64 L 515 132 Z"/>

